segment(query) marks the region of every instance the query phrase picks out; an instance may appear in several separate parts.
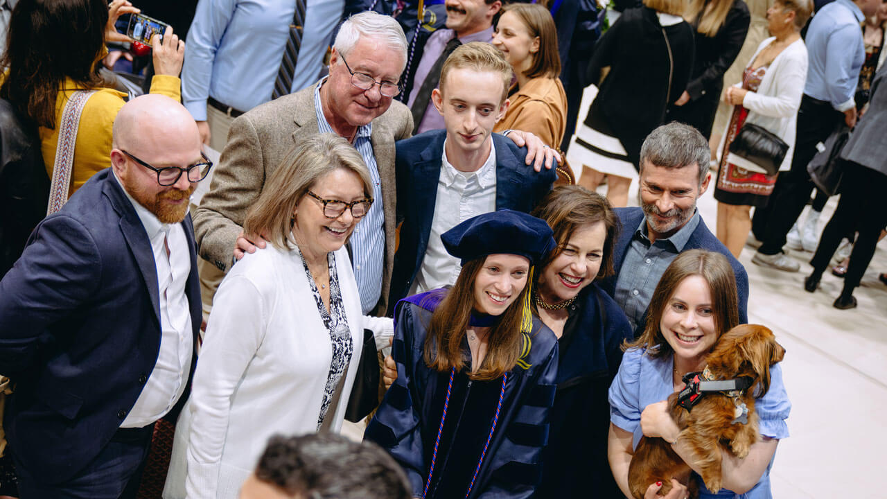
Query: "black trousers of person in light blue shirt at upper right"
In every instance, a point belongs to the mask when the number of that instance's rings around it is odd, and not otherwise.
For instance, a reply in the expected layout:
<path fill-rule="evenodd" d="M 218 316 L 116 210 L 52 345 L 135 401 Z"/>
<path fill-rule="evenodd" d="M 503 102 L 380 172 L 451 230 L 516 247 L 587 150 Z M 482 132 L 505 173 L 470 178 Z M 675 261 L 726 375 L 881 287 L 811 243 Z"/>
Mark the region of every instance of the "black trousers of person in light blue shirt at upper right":
<path fill-rule="evenodd" d="M 757 249 L 761 253 L 775 255 L 785 246 L 785 236 L 804 211 L 813 189 L 807 163 L 816 155 L 816 145 L 828 139 L 843 119 L 844 113 L 824 100 L 808 95 L 801 99 L 791 170 L 780 172 L 770 201 L 764 208 L 755 210 L 752 218 L 752 232 L 763 242 Z"/>

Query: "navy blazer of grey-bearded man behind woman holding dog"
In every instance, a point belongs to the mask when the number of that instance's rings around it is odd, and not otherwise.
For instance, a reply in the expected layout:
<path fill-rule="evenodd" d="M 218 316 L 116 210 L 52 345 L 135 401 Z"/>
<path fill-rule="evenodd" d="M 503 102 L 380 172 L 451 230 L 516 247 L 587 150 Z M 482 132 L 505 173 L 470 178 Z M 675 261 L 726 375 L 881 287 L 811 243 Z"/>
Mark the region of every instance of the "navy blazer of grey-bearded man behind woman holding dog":
<path fill-rule="evenodd" d="M 644 211 L 640 208 L 616 208 L 616 216 L 622 224 L 622 230 L 619 231 L 619 238 L 616 240 L 616 246 L 613 248 L 613 267 L 616 269 L 616 275 L 612 275 L 600 282 L 600 288 L 607 291 L 611 297 L 616 297 L 616 278 L 619 277 L 619 271 L 622 269 L 622 262 L 625 259 L 625 253 L 632 242 L 632 236 L 635 229 L 640 226 L 640 220 L 644 218 Z M 708 249 L 709 251 L 717 251 L 724 255 L 733 267 L 733 273 L 736 274 L 736 294 L 739 298 L 739 322 L 746 324 L 749 322 L 749 274 L 745 272 L 745 267 L 739 263 L 729 249 L 711 234 L 709 227 L 705 226 L 703 218 L 699 218 L 699 225 L 690 239 L 687 240 L 687 249 Z M 644 312 L 644 319 L 638 324 L 638 328 L 634 331 L 634 337 L 639 337 L 647 325 L 647 312 Z"/>

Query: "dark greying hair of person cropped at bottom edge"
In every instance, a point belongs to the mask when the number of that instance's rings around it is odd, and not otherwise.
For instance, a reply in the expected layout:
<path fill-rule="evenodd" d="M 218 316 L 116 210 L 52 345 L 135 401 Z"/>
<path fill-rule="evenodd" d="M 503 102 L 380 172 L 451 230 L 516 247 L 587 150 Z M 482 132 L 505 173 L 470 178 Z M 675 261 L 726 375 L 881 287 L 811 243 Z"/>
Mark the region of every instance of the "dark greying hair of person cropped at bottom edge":
<path fill-rule="evenodd" d="M 404 471 L 387 452 L 373 442 L 357 443 L 335 433 L 271 437 L 255 477 L 294 497 L 412 497 Z"/>

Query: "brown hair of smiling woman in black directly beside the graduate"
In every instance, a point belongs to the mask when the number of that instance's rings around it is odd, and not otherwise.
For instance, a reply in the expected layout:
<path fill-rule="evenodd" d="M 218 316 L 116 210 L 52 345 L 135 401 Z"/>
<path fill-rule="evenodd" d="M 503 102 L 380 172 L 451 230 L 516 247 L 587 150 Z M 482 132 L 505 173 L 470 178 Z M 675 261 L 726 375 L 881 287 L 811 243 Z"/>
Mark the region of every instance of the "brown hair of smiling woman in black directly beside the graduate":
<path fill-rule="evenodd" d="M 545 268 L 561 254 L 577 228 L 603 222 L 607 239 L 604 241 L 604 254 L 600 260 L 597 277 L 613 275 L 613 245 L 620 224 L 607 198 L 583 186 L 557 186 L 542 198 L 536 210 L 530 214 L 542 218 L 548 226 L 551 226 L 554 231 L 554 242 L 557 242 L 557 246 L 539 268 Z"/>

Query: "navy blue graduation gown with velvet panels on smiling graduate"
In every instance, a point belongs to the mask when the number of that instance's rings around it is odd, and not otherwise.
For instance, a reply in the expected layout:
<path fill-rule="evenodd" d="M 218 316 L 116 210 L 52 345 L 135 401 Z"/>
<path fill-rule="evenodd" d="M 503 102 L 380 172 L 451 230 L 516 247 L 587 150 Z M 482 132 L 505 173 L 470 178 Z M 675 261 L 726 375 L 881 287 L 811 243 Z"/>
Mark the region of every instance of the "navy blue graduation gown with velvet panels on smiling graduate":
<path fill-rule="evenodd" d="M 396 306 L 397 380 L 365 433 L 366 440 L 388 450 L 403 466 L 417 497 L 428 481 L 451 374 L 429 368 L 425 362 L 432 311 L 419 305 L 420 297 Z M 502 378 L 471 381 L 467 371 L 453 377 L 428 499 L 523 498 L 535 492 L 548 441 L 548 411 L 558 362 L 557 338 L 536 318 L 529 340 L 525 345 L 529 352 L 522 358 L 526 368 L 522 362 L 507 374 L 496 430 L 468 495 L 498 406 Z"/>

